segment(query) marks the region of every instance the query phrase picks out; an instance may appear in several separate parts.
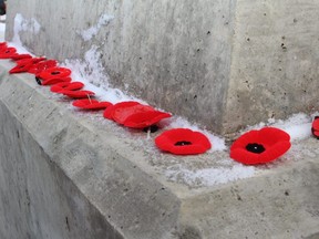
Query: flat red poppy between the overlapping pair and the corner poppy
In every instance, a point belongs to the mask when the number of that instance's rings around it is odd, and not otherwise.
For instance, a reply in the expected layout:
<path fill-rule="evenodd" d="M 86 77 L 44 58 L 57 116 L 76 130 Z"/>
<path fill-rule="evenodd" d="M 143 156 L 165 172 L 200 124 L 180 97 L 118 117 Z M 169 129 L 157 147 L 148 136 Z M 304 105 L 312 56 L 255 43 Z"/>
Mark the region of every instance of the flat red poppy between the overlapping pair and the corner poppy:
<path fill-rule="evenodd" d="M 155 144 L 164 152 L 175 155 L 203 154 L 212 147 L 208 138 L 200 132 L 188 128 L 174 128 L 162 133 Z"/>

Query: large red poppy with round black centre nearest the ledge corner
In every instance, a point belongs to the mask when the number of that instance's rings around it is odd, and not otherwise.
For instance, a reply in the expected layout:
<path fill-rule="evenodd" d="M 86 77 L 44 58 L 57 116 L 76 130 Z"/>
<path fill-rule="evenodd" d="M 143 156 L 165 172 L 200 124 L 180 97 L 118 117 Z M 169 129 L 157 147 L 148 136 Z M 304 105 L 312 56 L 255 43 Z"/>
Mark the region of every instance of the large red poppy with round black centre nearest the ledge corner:
<path fill-rule="evenodd" d="M 241 135 L 230 147 L 230 157 L 247 165 L 265 164 L 284 155 L 290 148 L 286 132 L 265 127 Z"/>

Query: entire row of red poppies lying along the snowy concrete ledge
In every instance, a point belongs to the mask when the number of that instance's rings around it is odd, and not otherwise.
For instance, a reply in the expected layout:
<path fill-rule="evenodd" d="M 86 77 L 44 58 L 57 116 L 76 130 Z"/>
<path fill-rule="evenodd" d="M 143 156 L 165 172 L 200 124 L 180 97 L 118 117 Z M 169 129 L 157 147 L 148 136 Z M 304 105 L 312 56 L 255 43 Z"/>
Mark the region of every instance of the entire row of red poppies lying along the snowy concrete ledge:
<path fill-rule="evenodd" d="M 74 98 L 73 106 L 82 110 L 104 110 L 103 116 L 120 125 L 144 131 L 156 131 L 156 124 L 172 115 L 138 102 L 99 102 L 95 93 L 83 90 L 84 84 L 72 82 L 71 70 L 60 67 L 58 61 L 19 54 L 6 42 L 0 43 L 0 59 L 13 60 L 17 65 L 9 73 L 31 73 L 40 85 L 50 85 L 51 92 Z M 319 138 L 319 118 L 312 124 L 312 134 Z M 163 152 L 176 155 L 203 154 L 212 148 L 209 139 L 200 132 L 174 128 L 155 138 L 155 145 Z M 250 131 L 237 138 L 230 147 L 230 157 L 247 165 L 265 164 L 284 155 L 290 148 L 290 136 L 275 127 Z"/>

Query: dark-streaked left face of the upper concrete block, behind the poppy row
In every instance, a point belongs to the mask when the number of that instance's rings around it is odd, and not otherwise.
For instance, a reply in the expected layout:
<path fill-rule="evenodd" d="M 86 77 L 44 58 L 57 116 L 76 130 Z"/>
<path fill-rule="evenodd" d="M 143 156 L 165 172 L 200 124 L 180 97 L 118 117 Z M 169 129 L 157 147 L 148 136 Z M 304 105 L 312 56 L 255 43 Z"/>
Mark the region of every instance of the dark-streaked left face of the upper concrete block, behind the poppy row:
<path fill-rule="evenodd" d="M 96 45 L 113 85 L 150 104 L 219 131 L 227 90 L 233 0 L 10 1 L 7 39 L 16 13 L 34 18 L 34 34 L 21 32 L 35 54 L 83 58 Z M 90 41 L 81 33 L 104 13 L 114 17 Z M 48 18 L 48 15 L 50 18 Z"/>

